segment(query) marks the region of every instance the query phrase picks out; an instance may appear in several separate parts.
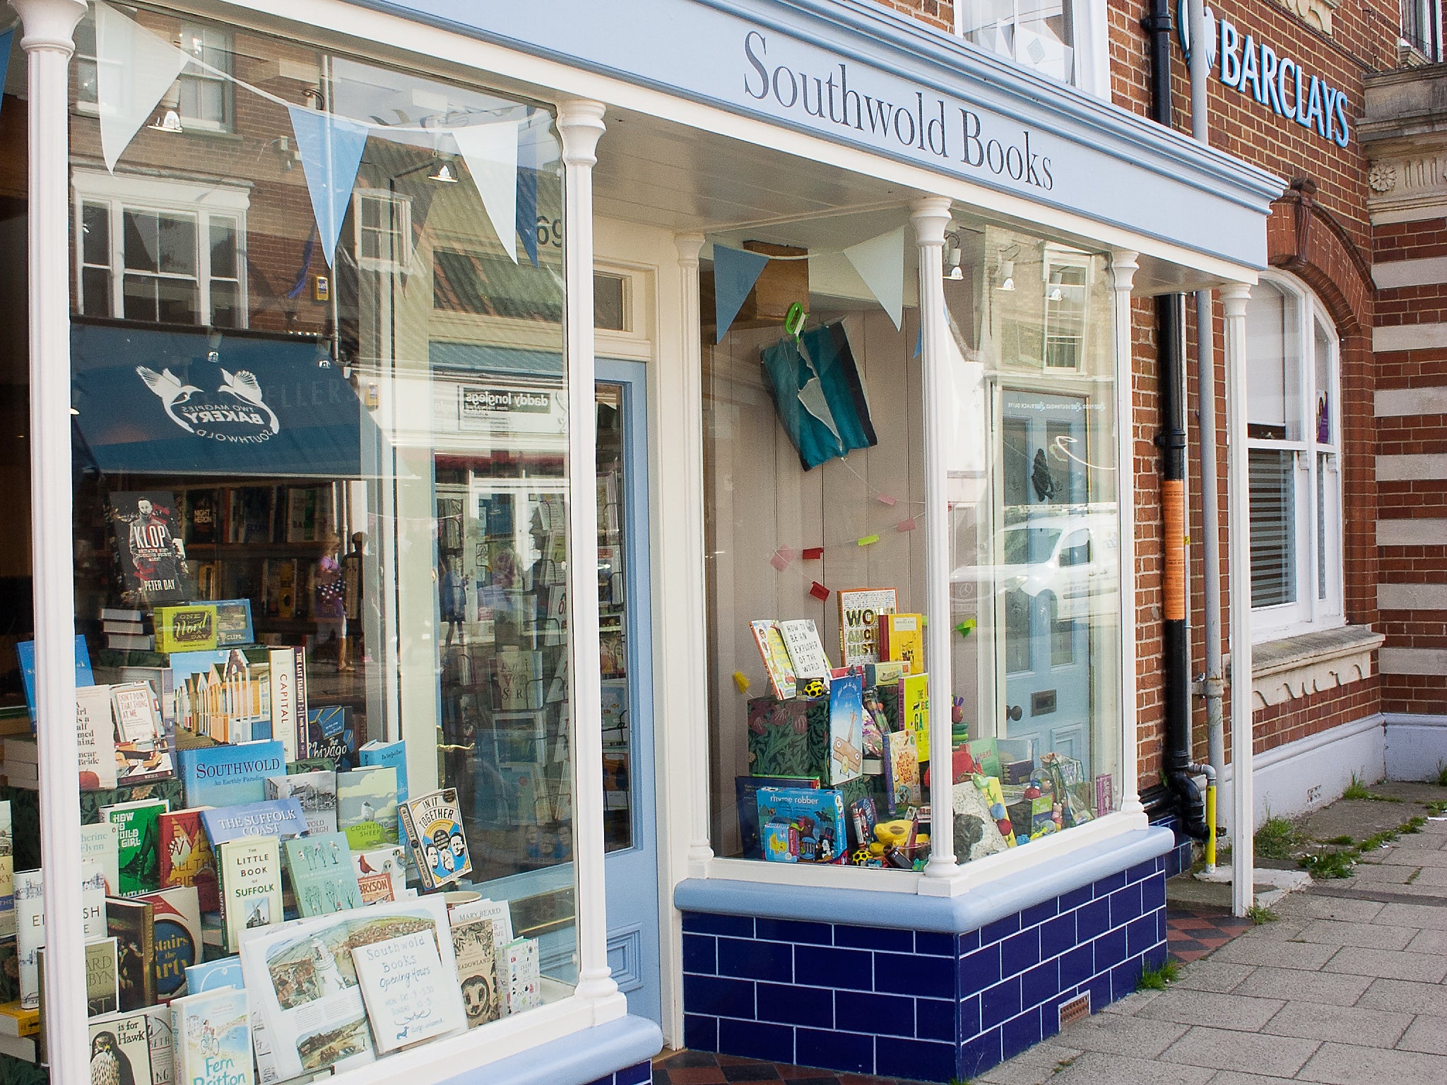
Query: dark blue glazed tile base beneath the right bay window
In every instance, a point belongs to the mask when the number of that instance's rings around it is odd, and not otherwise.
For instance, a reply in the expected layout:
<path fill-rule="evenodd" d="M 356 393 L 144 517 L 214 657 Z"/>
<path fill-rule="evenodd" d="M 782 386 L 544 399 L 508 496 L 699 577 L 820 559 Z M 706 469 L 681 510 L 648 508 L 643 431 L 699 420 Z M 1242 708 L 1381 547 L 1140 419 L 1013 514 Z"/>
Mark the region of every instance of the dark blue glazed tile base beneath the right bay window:
<path fill-rule="evenodd" d="M 1179 861 L 1174 848 L 958 935 L 686 910 L 684 1046 L 972 1078 L 1059 1031 L 1061 1003 L 1088 991 L 1100 1010 L 1165 961 Z"/>

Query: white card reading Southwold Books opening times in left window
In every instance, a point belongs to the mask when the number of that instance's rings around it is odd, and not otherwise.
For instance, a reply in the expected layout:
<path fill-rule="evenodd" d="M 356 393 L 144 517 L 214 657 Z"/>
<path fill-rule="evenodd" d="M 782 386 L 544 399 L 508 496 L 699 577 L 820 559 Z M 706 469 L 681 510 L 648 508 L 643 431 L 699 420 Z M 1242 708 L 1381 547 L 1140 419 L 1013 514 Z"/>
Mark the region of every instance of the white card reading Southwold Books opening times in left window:
<path fill-rule="evenodd" d="M 443 969 L 434 932 L 353 946 L 352 963 L 379 1052 L 467 1027 L 456 969 Z"/>

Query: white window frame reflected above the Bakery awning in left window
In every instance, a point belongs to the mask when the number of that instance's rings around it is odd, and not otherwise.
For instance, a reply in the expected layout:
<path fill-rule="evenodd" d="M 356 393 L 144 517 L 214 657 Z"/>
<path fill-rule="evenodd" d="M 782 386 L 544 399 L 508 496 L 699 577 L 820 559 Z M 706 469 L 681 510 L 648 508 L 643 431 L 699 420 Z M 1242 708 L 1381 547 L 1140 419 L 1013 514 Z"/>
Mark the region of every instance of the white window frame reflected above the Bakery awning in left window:
<path fill-rule="evenodd" d="M 250 208 L 249 190 L 242 187 L 200 185 L 188 181 L 169 181 L 153 176 L 111 175 L 90 169 L 77 169 L 71 185 L 75 194 L 71 214 L 75 229 L 75 244 L 72 249 L 78 311 L 84 311 L 82 271 L 85 266 L 98 266 L 85 265 L 81 240 L 84 208 L 87 204 L 104 204 L 109 208 L 110 223 L 110 312 L 113 318 L 124 318 L 126 308 L 122 216 L 127 210 L 159 211 L 191 217 L 197 224 L 197 310 L 201 320 L 194 327 L 211 326 L 211 218 L 230 218 L 236 224 L 236 278 L 220 278 L 226 282 L 236 282 L 237 323 L 234 327 L 245 328 L 247 326 L 246 213 Z"/>

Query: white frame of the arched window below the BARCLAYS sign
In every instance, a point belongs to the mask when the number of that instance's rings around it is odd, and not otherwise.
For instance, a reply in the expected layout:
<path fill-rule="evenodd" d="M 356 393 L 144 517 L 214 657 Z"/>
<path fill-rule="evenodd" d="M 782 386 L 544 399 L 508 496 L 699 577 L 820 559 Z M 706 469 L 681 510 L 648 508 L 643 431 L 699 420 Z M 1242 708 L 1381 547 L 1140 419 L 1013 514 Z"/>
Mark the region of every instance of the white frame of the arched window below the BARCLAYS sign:
<path fill-rule="evenodd" d="M 1288 389 L 1288 409 L 1297 411 L 1298 440 L 1247 438 L 1247 448 L 1291 451 L 1295 456 L 1292 571 L 1297 599 L 1288 603 L 1252 608 L 1252 641 L 1275 641 L 1346 624 L 1343 606 L 1343 505 L 1341 505 L 1341 341 L 1336 324 L 1321 299 L 1294 276 L 1262 272 L 1262 284 L 1281 291 L 1288 307 L 1295 305 L 1299 360 L 1297 395 Z M 1253 291 L 1250 311 L 1263 291 Z M 1317 440 L 1317 328 L 1325 331 L 1327 411 L 1331 441 Z M 1324 475 L 1323 475 L 1324 473 Z M 1321 496 L 1318 496 L 1321 495 Z M 1318 508 L 1324 505 L 1324 508 Z M 1325 514 L 1324 521 L 1321 519 Z M 1324 531 L 1318 531 L 1318 525 Z M 1323 547 L 1325 553 L 1323 553 Z M 1321 573 L 1325 592 L 1321 592 Z"/>

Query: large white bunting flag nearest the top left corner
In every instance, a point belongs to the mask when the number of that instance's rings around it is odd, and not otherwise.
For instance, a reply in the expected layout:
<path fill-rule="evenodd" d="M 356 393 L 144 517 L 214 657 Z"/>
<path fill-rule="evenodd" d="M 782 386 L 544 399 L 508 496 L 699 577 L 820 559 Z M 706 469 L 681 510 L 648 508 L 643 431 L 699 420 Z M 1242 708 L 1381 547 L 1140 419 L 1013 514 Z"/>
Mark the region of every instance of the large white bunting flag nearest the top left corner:
<path fill-rule="evenodd" d="M 96 101 L 106 169 L 116 172 L 130 140 L 190 62 L 110 4 L 96 4 Z"/>

